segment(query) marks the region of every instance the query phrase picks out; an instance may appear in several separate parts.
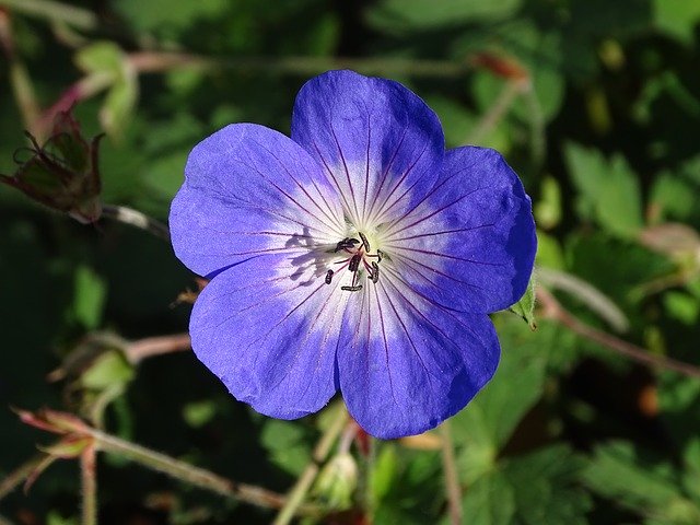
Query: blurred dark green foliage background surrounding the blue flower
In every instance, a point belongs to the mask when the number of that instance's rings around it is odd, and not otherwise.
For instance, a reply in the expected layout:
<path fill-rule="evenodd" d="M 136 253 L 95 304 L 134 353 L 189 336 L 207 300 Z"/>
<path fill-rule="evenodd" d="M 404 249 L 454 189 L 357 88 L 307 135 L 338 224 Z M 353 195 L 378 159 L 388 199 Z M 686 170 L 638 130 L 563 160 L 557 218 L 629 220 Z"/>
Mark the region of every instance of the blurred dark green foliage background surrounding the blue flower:
<path fill-rule="evenodd" d="M 506 156 L 539 230 L 537 329 L 494 316 L 502 364 L 452 420 L 463 523 L 700 524 L 698 22 L 697 0 L 0 0 L 0 173 L 77 98 L 85 136 L 107 135 L 103 202 L 164 221 L 215 129 L 289 132 L 296 91 L 328 69 L 405 83 L 450 147 Z M 121 358 L 186 330 L 176 300 L 197 284 L 166 242 L 7 185 L 0 218 L 0 479 L 54 440 L 10 407 L 48 406 L 236 481 L 294 483 L 323 415 L 259 417 L 189 352 Z M 440 436 L 353 447 L 357 489 L 308 495 L 320 522 L 451 523 Z M 118 456 L 97 479 L 104 524 L 275 515 Z M 75 460 L 0 498 L 2 524 L 81 523 Z"/>

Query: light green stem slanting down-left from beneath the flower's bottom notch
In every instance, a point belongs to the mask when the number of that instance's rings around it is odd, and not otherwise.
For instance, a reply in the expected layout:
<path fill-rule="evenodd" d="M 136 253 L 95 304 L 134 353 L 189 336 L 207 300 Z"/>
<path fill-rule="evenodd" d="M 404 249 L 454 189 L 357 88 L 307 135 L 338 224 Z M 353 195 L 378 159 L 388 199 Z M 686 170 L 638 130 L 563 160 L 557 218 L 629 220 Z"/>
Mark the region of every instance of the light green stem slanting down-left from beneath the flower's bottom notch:
<path fill-rule="evenodd" d="M 348 410 L 343 405 L 336 419 L 331 422 L 316 444 L 312 454 L 312 460 L 306 465 L 306 468 L 296 480 L 296 483 L 292 487 L 292 490 L 288 494 L 287 503 L 280 510 L 275 522 L 272 522 L 272 525 L 288 525 L 292 521 L 292 517 L 296 514 L 298 509 L 301 506 L 308 489 L 311 489 L 314 479 L 316 479 L 316 476 L 318 475 L 319 465 L 326 460 L 326 457 L 330 453 L 330 448 L 340 435 L 340 432 L 342 432 L 348 420 Z"/>

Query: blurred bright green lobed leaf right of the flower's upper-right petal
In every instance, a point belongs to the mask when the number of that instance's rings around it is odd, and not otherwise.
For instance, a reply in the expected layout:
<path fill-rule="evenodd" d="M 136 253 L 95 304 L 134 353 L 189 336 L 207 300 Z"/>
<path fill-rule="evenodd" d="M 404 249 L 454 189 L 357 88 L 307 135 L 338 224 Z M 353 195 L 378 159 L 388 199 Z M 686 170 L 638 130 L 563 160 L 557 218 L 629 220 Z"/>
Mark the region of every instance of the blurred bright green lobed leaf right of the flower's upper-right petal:
<path fill-rule="evenodd" d="M 607 161 L 599 152 L 572 142 L 564 155 L 580 192 L 580 214 L 615 235 L 634 237 L 643 224 L 641 191 L 627 161 L 620 155 Z"/>

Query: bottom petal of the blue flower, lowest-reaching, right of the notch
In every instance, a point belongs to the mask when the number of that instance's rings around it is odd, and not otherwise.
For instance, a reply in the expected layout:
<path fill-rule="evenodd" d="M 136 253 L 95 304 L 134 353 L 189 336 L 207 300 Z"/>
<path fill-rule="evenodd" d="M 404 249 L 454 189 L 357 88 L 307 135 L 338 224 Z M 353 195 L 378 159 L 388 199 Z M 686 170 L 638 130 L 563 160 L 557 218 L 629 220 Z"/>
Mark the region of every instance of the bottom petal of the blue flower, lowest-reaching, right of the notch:
<path fill-rule="evenodd" d="M 487 315 L 450 312 L 400 276 L 380 278 L 343 320 L 340 389 L 370 434 L 418 434 L 455 415 L 495 372 L 500 347 Z"/>

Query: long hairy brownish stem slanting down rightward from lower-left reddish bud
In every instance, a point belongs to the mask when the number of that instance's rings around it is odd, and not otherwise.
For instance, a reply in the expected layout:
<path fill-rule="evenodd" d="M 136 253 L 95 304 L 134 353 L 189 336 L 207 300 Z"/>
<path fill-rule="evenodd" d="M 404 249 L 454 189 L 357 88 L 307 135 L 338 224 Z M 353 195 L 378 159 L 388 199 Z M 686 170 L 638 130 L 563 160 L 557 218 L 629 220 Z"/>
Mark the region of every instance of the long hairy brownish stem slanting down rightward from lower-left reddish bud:
<path fill-rule="evenodd" d="M 195 467 L 188 463 L 98 430 L 89 429 L 86 434 L 95 440 L 97 450 L 119 455 L 200 489 L 266 509 L 280 509 L 285 504 L 284 497 L 276 492 L 252 485 L 231 481 L 203 468 Z M 311 516 L 316 516 L 320 513 L 319 509 L 312 505 L 299 506 L 296 512 Z"/>

